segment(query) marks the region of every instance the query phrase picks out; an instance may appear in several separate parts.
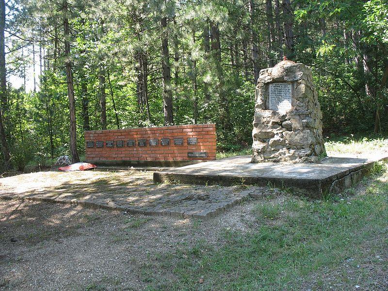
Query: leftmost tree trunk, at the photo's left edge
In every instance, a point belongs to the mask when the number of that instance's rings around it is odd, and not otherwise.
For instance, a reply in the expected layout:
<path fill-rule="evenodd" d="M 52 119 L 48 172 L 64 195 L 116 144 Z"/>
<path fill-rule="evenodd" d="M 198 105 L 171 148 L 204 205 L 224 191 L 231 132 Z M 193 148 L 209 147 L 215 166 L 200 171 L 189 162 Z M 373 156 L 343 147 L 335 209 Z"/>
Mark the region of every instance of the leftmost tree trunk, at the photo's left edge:
<path fill-rule="evenodd" d="M 11 164 L 11 155 L 9 153 L 7 139 L 5 137 L 5 130 L 3 126 L 3 117 L 2 113 L 4 112 L 4 106 L 6 101 L 7 94 L 7 70 L 5 67 L 5 0 L 0 0 L 0 99 L 1 99 L 1 109 L 0 109 L 0 139 L 1 139 L 1 150 L 3 152 L 4 158 L 4 169 L 9 170 L 12 168 Z"/>

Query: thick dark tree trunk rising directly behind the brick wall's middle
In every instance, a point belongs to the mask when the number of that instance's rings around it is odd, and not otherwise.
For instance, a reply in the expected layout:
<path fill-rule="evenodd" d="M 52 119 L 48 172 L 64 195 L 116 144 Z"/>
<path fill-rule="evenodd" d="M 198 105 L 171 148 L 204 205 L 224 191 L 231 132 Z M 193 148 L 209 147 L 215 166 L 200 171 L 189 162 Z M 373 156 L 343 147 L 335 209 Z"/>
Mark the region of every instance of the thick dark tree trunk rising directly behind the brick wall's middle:
<path fill-rule="evenodd" d="M 174 124 L 171 91 L 171 67 L 168 55 L 167 17 L 161 19 L 162 28 L 162 76 L 163 76 L 163 112 L 164 125 Z"/>

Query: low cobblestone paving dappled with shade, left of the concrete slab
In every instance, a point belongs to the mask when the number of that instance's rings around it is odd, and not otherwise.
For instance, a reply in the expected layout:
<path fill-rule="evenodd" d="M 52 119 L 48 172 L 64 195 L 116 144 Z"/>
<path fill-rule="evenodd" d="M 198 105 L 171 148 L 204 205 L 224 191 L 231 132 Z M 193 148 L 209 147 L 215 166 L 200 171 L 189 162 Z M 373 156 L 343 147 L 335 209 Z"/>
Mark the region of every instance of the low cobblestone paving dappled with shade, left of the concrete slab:
<path fill-rule="evenodd" d="M 177 217 L 209 218 L 264 188 L 154 184 L 152 172 L 38 172 L 0 179 L 0 198 L 79 204 Z"/>

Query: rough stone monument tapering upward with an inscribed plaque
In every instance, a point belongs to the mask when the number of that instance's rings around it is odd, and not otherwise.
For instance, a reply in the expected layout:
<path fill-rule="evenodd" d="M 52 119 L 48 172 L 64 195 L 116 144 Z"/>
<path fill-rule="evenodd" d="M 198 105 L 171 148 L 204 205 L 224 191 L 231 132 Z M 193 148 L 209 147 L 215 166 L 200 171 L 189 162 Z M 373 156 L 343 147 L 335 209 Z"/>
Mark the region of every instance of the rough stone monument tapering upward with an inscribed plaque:
<path fill-rule="evenodd" d="M 260 71 L 252 162 L 319 162 L 322 112 L 311 69 L 287 58 Z"/>

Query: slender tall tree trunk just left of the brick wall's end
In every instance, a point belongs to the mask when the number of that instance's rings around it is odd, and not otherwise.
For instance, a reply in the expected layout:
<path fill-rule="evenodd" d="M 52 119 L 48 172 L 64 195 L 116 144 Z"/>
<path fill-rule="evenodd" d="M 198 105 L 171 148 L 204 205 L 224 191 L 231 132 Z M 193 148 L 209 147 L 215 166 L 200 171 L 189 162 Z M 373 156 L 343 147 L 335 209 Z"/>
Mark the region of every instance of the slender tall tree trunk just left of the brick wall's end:
<path fill-rule="evenodd" d="M 63 21 L 64 21 L 64 35 L 65 35 L 65 67 L 66 67 L 66 79 L 67 79 L 67 95 L 69 97 L 69 109 L 70 109 L 70 151 L 72 161 L 80 162 L 80 157 L 77 151 L 77 124 L 76 124 L 76 105 L 74 100 L 74 87 L 73 87 L 73 73 L 71 70 L 70 60 L 70 41 L 69 41 L 69 19 L 67 18 L 68 4 L 67 0 L 63 1 Z"/>

